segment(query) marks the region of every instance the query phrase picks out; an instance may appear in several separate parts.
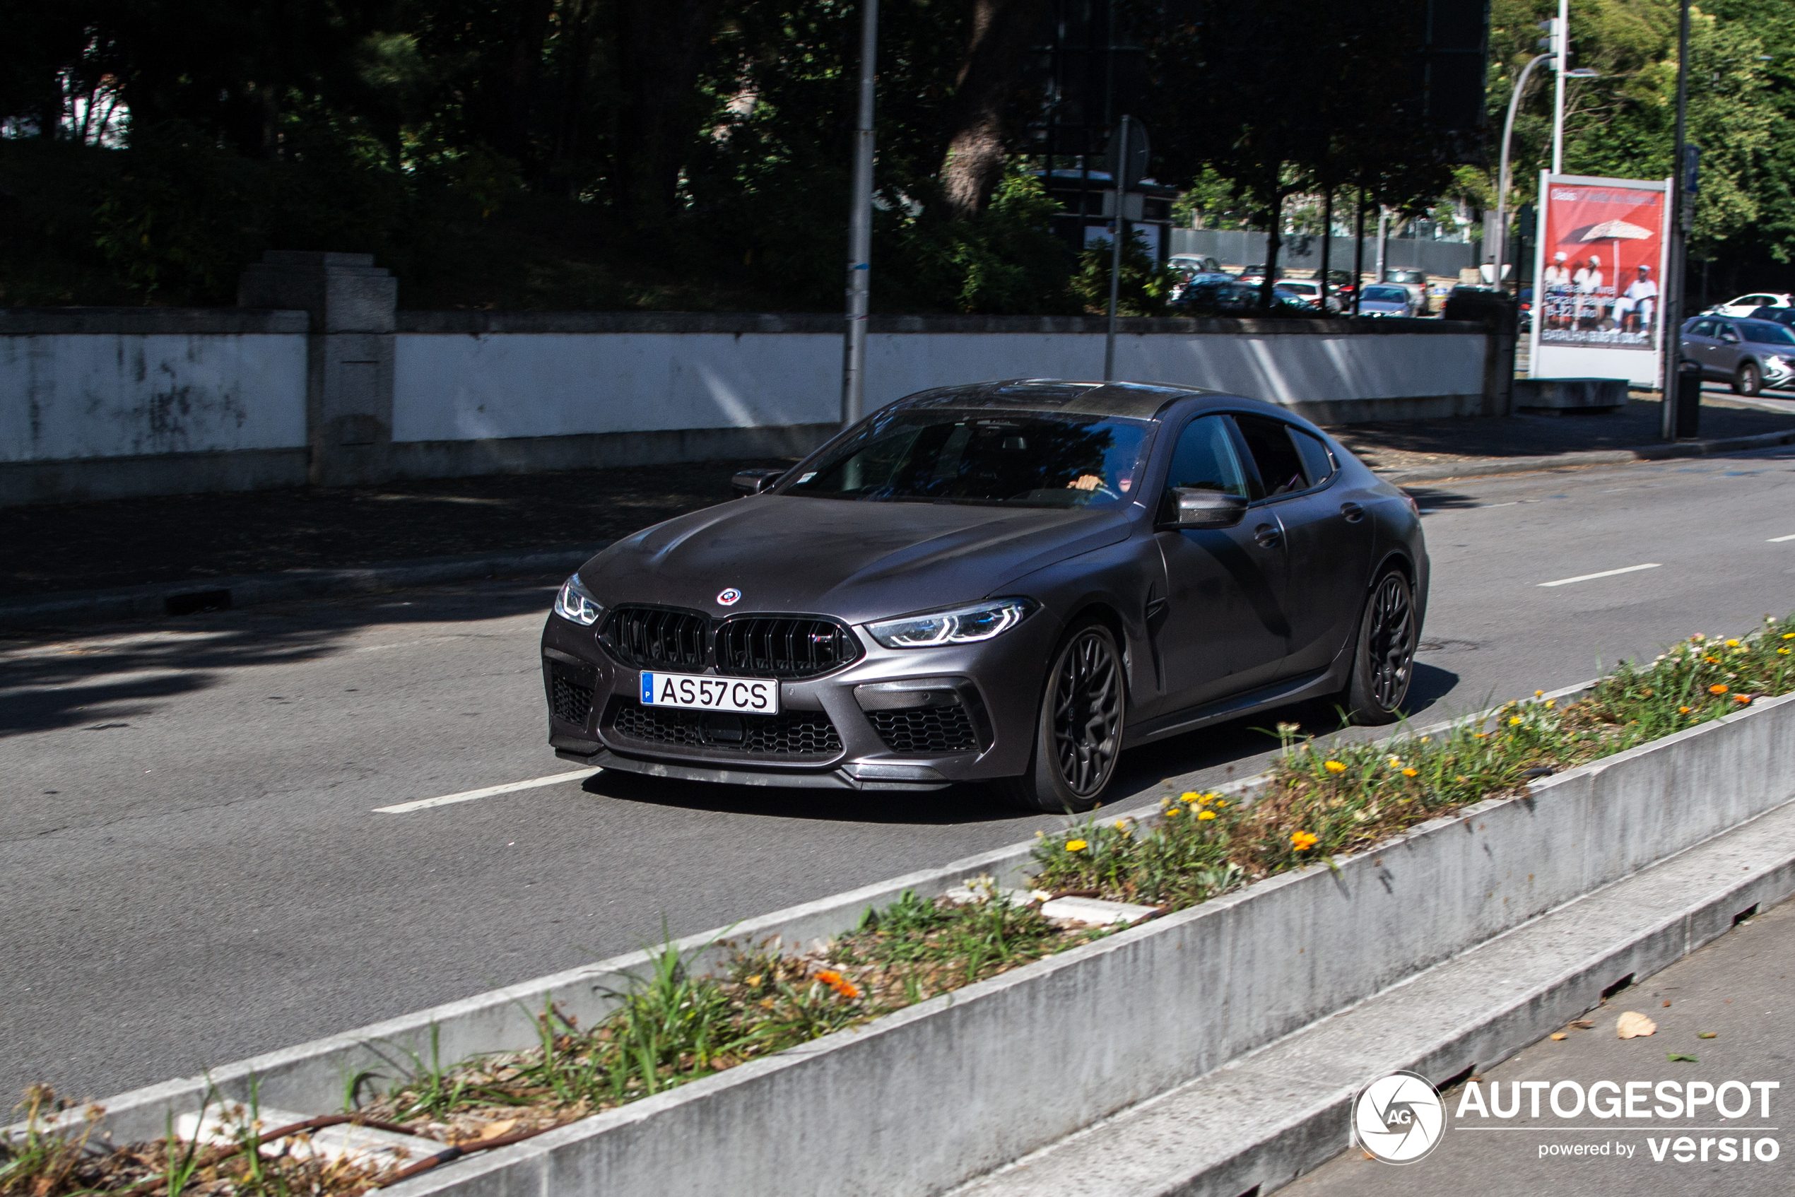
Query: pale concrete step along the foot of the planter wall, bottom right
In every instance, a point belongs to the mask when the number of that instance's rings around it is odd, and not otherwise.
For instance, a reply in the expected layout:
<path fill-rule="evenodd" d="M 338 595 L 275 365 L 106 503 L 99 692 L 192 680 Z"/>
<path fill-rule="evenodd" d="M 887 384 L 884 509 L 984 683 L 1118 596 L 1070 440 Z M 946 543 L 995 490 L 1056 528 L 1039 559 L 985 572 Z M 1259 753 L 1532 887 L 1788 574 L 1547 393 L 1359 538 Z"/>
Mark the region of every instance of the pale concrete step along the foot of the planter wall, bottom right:
<path fill-rule="evenodd" d="M 1786 804 L 950 1195 L 1276 1192 L 1350 1150 L 1350 1105 L 1366 1079 L 1407 1070 L 1449 1089 L 1791 892 Z"/>

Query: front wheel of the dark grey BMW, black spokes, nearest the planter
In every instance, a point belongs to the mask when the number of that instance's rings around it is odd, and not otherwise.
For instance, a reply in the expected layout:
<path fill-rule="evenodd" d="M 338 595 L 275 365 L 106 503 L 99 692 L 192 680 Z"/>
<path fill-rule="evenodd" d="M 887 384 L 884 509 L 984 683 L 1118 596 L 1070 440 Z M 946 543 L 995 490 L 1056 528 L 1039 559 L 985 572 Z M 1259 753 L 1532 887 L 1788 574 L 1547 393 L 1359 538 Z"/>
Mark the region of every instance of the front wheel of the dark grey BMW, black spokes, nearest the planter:
<path fill-rule="evenodd" d="M 1102 802 L 1122 756 L 1125 705 L 1115 635 L 1097 619 L 1075 623 L 1050 657 L 1029 772 L 998 782 L 1005 800 L 1050 815 Z"/>

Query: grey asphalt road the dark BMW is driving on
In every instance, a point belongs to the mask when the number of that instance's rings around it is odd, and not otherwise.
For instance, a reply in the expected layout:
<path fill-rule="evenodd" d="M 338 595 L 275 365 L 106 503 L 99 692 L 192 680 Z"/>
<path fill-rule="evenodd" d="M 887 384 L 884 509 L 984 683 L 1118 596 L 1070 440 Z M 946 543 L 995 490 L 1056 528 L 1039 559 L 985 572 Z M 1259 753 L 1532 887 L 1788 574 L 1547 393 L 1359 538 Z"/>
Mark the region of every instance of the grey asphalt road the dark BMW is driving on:
<path fill-rule="evenodd" d="M 1438 485 L 1423 718 L 1795 607 L 1795 452 Z M 1632 565 L 1653 569 L 1542 587 Z M 562 773 L 558 580 L 0 641 L 0 1093 L 104 1097 L 1027 838 L 984 790 Z M 1276 718 L 1253 720 L 1269 727 Z M 1316 730 L 1327 712 L 1300 711 Z M 1255 772 L 1129 754 L 1118 809 Z"/>

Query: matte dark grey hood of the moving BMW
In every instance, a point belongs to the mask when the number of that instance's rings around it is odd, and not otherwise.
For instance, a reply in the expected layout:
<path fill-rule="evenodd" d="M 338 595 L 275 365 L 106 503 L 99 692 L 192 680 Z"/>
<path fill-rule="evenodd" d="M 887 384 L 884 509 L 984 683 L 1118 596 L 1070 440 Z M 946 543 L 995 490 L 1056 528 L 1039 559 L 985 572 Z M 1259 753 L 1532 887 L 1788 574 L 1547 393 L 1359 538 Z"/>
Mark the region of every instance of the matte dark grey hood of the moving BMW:
<path fill-rule="evenodd" d="M 1129 535 L 1129 511 L 756 495 L 626 537 L 580 567 L 605 607 L 713 616 L 819 612 L 849 623 L 966 603 Z M 741 599 L 722 607 L 734 589 Z"/>

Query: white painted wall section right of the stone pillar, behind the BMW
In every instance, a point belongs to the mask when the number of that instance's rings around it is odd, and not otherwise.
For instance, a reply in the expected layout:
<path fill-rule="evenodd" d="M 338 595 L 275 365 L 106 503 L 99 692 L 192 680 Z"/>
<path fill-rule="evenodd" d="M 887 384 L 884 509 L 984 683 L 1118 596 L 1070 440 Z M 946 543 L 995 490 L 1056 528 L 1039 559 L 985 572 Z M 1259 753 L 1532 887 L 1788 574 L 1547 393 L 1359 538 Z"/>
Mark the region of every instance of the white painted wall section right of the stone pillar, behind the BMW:
<path fill-rule="evenodd" d="M 826 424 L 842 339 L 824 334 L 398 334 L 395 441 Z M 1116 339 L 1116 377 L 1271 402 L 1477 395 L 1481 334 Z M 989 379 L 1099 379 L 1091 334 L 867 337 L 867 406 Z"/>

